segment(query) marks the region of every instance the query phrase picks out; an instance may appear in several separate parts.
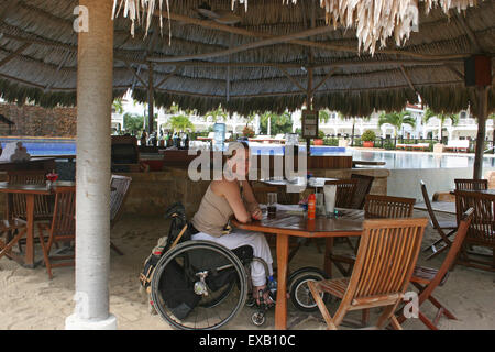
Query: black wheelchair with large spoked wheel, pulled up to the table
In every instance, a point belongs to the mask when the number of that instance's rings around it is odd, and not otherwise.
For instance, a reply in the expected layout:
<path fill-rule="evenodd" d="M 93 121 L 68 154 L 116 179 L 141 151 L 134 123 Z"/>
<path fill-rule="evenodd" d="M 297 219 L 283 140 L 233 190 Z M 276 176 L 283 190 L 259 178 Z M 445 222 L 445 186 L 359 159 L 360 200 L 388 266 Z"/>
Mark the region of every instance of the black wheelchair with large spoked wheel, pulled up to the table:
<path fill-rule="evenodd" d="M 229 250 L 210 241 L 184 241 L 168 250 L 154 267 L 150 282 L 151 302 L 157 314 L 179 330 L 212 330 L 234 319 L 244 306 L 254 307 L 255 326 L 266 321 L 270 306 L 253 298 L 250 265 L 261 262 L 249 245 Z M 318 310 L 308 280 L 328 278 L 316 267 L 302 267 L 288 276 L 290 301 L 301 311 Z M 271 290 L 276 299 L 276 289 Z M 323 300 L 329 297 L 322 294 Z"/>

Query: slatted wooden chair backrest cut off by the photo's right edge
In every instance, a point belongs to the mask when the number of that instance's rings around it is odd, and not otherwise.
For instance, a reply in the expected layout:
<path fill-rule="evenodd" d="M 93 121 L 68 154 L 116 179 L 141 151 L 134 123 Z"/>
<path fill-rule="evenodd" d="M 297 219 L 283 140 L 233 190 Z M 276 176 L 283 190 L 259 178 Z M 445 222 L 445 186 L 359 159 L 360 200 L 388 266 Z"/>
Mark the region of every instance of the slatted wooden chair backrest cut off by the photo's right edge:
<path fill-rule="evenodd" d="M 473 220 L 466 240 L 473 243 L 495 246 L 495 195 L 472 190 L 455 190 L 455 213 L 458 224 L 461 216 L 473 208 Z"/>

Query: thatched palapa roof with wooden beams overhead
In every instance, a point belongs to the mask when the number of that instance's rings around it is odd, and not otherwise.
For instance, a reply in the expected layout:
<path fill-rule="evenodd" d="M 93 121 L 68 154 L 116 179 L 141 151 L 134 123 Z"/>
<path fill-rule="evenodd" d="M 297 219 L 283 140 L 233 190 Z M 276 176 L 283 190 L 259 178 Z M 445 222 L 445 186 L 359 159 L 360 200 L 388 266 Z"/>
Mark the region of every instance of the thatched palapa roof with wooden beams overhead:
<path fill-rule="evenodd" d="M 494 1 L 426 0 L 416 12 L 413 0 L 363 3 L 116 0 L 114 96 L 133 89 L 146 101 L 151 81 L 156 106 L 199 112 L 219 103 L 241 113 L 294 110 L 308 95 L 317 109 L 353 116 L 400 110 L 418 92 L 433 110 L 475 103 L 463 61 L 495 53 Z M 77 6 L 0 1 L 4 99 L 75 105 Z"/>

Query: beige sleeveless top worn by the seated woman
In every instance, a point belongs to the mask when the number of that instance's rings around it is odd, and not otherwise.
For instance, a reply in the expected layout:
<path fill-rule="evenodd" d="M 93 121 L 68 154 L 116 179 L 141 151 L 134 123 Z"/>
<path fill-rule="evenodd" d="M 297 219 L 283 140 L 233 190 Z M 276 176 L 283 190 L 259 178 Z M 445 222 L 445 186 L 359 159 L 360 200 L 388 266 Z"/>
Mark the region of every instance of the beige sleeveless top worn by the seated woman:
<path fill-rule="evenodd" d="M 232 215 L 233 210 L 227 198 L 217 196 L 210 184 L 191 223 L 196 230 L 219 238 L 230 232 L 229 219 Z"/>

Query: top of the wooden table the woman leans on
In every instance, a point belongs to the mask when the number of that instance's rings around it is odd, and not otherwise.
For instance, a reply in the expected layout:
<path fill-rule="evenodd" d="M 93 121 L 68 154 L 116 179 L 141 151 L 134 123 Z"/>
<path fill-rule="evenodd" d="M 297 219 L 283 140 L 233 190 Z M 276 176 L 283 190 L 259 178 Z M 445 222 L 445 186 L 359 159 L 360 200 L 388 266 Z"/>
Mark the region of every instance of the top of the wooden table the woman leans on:
<path fill-rule="evenodd" d="M 244 230 L 265 233 L 283 233 L 297 237 L 339 237 L 360 235 L 363 231 L 364 211 L 356 209 L 338 209 L 337 217 L 319 216 L 309 220 L 304 212 L 299 215 L 289 210 L 277 210 L 275 218 L 263 219 L 250 223 L 232 220 L 233 226 Z"/>

